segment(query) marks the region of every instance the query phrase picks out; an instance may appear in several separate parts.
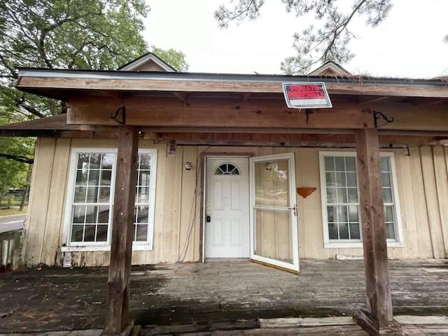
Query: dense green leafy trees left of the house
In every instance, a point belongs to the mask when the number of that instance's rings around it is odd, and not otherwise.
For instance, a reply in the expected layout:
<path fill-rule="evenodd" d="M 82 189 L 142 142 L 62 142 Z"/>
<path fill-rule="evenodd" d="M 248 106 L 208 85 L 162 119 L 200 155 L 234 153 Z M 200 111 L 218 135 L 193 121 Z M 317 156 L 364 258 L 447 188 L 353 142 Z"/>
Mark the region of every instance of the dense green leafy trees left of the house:
<path fill-rule="evenodd" d="M 117 69 L 144 54 L 144 0 L 0 1 L 0 125 L 57 115 L 64 104 L 15 89 L 16 67 Z M 34 139 L 0 137 L 0 198 L 26 183 Z M 8 158 L 3 158 L 7 154 Z"/>

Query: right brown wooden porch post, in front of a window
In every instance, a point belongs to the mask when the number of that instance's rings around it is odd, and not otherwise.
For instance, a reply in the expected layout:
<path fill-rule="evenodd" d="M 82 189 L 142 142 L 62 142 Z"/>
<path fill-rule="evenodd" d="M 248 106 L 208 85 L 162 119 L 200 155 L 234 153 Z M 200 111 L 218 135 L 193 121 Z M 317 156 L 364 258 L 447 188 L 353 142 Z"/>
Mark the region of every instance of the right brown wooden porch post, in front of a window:
<path fill-rule="evenodd" d="M 393 321 L 377 130 L 356 131 L 367 311 L 356 321 L 373 334 Z"/>

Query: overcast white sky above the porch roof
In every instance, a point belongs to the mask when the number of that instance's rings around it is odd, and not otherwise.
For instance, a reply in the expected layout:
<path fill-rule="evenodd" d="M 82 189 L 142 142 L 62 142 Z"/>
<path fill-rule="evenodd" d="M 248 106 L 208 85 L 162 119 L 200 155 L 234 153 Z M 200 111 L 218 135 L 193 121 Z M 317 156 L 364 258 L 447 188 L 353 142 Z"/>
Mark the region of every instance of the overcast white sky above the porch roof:
<path fill-rule="evenodd" d="M 311 22 L 286 13 L 280 0 L 265 0 L 255 22 L 220 29 L 214 11 L 230 0 L 147 1 L 151 11 L 145 21 L 146 41 L 184 52 L 191 72 L 281 73 L 281 61 L 295 55 L 293 33 Z M 363 20 L 350 25 L 357 36 L 350 44 L 356 57 L 342 66 L 353 74 L 370 76 L 448 76 L 448 43 L 443 41 L 448 34 L 448 1 L 392 2 L 388 17 L 378 27 L 366 27 Z"/>

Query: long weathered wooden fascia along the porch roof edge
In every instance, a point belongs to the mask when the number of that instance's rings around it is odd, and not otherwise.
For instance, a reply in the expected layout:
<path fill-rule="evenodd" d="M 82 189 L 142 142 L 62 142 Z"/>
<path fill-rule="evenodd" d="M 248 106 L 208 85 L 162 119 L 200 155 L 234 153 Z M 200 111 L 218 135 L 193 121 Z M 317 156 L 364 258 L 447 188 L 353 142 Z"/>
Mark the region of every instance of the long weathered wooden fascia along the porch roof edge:
<path fill-rule="evenodd" d="M 443 78 L 407 79 L 369 76 L 288 76 L 158 71 L 101 71 L 20 68 L 17 87 L 25 92 L 66 100 L 76 92 L 215 92 L 281 94 L 282 83 L 323 82 L 329 94 L 448 98 Z"/>

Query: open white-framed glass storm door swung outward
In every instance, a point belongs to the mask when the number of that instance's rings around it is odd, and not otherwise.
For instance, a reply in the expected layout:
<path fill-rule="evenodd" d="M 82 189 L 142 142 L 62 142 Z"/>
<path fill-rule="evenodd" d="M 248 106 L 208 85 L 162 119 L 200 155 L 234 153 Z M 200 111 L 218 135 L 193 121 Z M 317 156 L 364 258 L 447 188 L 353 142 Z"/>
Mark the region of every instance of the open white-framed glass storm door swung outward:
<path fill-rule="evenodd" d="M 294 154 L 250 158 L 251 259 L 299 272 Z"/>

